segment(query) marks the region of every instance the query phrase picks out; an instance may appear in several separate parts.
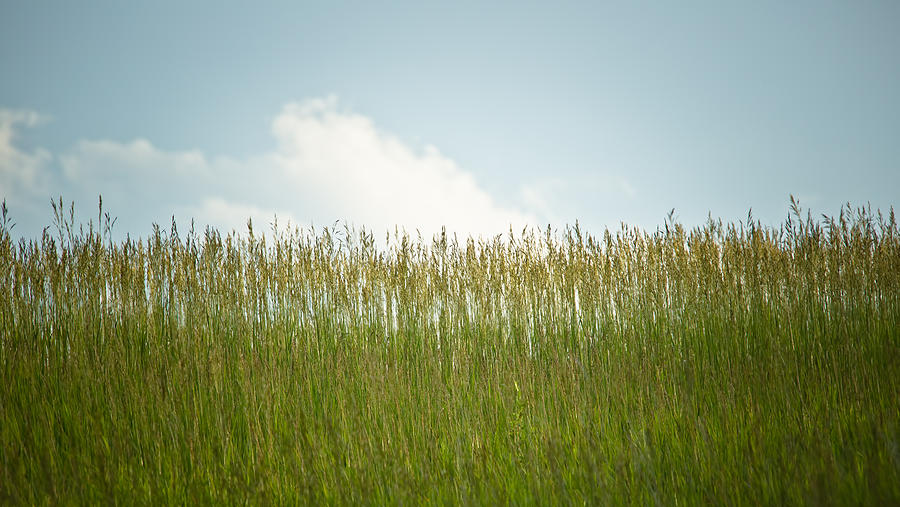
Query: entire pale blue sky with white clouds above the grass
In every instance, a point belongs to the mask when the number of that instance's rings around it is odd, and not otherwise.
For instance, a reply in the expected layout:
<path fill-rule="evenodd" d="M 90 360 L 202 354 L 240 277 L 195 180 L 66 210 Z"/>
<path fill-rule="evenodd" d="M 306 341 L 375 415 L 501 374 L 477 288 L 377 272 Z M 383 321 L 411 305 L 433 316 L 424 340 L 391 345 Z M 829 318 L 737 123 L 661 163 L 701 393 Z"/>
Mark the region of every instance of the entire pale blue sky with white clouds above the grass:
<path fill-rule="evenodd" d="M 0 0 L 0 198 L 118 234 L 900 204 L 900 3 Z M 268 225 L 266 225 L 268 226 Z"/>

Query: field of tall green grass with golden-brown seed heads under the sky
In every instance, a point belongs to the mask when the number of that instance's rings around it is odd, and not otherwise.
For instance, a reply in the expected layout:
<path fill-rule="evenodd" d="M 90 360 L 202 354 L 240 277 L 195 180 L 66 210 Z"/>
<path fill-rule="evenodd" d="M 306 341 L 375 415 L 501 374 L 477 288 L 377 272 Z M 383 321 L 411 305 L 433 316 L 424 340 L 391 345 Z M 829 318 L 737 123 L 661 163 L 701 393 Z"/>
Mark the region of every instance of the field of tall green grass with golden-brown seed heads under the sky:
<path fill-rule="evenodd" d="M 900 230 L 0 228 L 0 502 L 900 502 Z"/>

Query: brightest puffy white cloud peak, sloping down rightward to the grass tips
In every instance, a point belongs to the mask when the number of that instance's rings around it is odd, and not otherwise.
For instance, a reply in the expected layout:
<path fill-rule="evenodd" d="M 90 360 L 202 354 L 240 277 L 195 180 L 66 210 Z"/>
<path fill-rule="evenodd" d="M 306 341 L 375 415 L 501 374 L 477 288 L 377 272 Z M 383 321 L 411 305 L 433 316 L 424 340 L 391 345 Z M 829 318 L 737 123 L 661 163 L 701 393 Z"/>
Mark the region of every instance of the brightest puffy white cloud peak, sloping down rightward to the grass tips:
<path fill-rule="evenodd" d="M 326 220 L 486 234 L 534 222 L 498 205 L 437 148 L 416 150 L 369 118 L 338 110 L 333 98 L 287 105 L 272 131 L 278 168 Z"/>

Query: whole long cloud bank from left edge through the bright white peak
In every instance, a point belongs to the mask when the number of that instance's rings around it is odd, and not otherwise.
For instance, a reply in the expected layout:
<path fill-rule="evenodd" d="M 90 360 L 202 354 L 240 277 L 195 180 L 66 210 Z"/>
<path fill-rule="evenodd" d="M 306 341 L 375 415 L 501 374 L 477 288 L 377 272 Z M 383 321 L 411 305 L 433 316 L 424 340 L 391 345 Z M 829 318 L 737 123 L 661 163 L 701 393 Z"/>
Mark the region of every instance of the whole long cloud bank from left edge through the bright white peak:
<path fill-rule="evenodd" d="M 61 170 L 55 172 L 49 152 L 26 153 L 13 143 L 14 127 L 34 125 L 38 117 L 5 114 L 4 195 L 42 185 L 90 212 L 102 194 L 106 210 L 119 217 L 119 231 L 132 235 L 146 235 L 151 223 L 167 224 L 172 216 L 245 230 L 247 218 L 267 227 L 277 214 L 279 223 L 346 220 L 377 233 L 399 225 L 426 237 L 442 226 L 491 235 L 537 223 L 534 213 L 500 205 L 437 148 L 411 146 L 371 118 L 343 110 L 334 97 L 285 105 L 271 125 L 276 148 L 254 157 L 166 151 L 146 139 L 82 140 L 56 157 Z"/>

